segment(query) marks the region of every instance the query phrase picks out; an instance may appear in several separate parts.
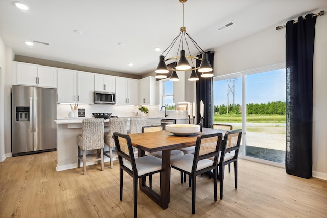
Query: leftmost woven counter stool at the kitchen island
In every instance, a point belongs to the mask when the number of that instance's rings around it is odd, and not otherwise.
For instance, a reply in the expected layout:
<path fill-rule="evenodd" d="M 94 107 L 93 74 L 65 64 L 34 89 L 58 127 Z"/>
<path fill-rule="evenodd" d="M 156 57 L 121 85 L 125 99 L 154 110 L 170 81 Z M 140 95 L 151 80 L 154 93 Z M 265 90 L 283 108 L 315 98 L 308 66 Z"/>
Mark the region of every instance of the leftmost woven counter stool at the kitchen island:
<path fill-rule="evenodd" d="M 101 171 L 103 171 L 103 130 L 104 119 L 91 118 L 82 120 L 82 134 L 77 135 L 77 158 L 78 167 L 81 167 L 81 161 L 83 161 L 84 175 L 86 175 L 86 162 L 90 161 L 100 161 Z M 81 150 L 83 151 L 82 155 Z M 86 151 L 90 150 L 97 150 L 97 152 L 86 154 Z"/>

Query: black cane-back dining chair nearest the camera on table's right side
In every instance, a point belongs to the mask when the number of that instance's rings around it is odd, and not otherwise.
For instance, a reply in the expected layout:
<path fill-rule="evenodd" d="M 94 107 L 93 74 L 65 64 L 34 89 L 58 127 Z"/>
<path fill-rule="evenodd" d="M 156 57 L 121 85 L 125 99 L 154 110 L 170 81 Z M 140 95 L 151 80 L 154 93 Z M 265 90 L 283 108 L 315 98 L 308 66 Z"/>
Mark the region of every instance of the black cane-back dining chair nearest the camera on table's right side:
<path fill-rule="evenodd" d="M 194 154 L 186 154 L 170 160 L 172 168 L 189 175 L 192 190 L 192 214 L 195 214 L 197 175 L 205 173 L 208 170 L 214 171 L 214 200 L 217 201 L 217 161 L 221 147 L 221 140 L 222 133 L 199 135 L 196 140 Z M 213 157 L 213 160 L 208 159 L 210 157 Z"/>

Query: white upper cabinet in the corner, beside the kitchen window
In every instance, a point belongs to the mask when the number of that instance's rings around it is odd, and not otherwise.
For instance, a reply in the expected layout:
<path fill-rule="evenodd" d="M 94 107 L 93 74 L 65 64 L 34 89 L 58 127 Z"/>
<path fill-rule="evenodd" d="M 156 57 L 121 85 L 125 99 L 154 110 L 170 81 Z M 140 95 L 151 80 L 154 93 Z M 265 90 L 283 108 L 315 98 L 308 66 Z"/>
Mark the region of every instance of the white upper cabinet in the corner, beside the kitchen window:
<path fill-rule="evenodd" d="M 153 76 L 139 80 L 139 104 L 156 104 L 156 78 Z"/>

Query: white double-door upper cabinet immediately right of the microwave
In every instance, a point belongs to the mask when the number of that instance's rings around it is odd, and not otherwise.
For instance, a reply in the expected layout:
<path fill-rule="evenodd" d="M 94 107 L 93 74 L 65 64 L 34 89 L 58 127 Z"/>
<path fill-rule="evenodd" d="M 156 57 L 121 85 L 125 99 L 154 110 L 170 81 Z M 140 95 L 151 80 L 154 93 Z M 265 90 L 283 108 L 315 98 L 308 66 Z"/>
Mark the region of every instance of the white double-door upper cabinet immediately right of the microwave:
<path fill-rule="evenodd" d="M 138 81 L 116 77 L 116 104 L 138 105 Z"/>

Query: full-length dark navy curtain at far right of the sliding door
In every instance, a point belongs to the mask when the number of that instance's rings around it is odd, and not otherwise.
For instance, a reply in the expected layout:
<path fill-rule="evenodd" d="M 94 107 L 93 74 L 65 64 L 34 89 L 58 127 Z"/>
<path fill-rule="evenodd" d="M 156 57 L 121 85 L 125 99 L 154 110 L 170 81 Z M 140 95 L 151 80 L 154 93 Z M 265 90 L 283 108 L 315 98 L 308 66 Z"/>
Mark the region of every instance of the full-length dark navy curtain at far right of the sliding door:
<path fill-rule="evenodd" d="M 286 172 L 312 177 L 313 50 L 316 17 L 286 24 Z"/>

